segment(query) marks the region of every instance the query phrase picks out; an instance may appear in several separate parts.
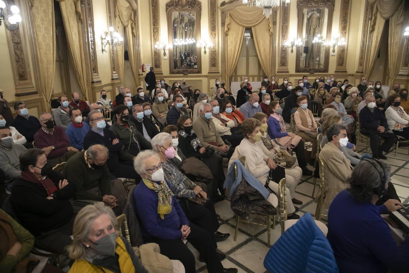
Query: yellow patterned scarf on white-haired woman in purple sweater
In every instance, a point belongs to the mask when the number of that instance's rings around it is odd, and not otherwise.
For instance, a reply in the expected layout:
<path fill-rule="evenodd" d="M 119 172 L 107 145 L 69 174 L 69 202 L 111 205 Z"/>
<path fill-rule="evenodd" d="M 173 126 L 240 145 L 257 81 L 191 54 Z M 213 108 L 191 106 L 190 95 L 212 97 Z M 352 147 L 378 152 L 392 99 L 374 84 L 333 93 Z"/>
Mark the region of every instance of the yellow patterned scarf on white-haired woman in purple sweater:
<path fill-rule="evenodd" d="M 157 213 L 159 213 L 160 218 L 163 220 L 164 215 L 172 211 L 173 192 L 165 181 L 161 181 L 159 184 L 146 178 L 142 178 L 142 181 L 144 181 L 146 187 L 157 192 Z"/>

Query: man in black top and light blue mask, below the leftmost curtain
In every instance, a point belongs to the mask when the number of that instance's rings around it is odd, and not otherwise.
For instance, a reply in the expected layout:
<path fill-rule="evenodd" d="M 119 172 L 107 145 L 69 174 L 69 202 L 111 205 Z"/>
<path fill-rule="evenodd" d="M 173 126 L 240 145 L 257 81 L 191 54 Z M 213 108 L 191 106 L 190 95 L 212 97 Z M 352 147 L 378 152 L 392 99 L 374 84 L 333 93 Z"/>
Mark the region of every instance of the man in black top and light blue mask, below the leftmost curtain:
<path fill-rule="evenodd" d="M 16 128 L 20 134 L 24 135 L 28 143 L 34 141 L 34 135 L 41 128 L 38 119 L 28 114 L 27 106 L 24 102 L 16 102 L 14 104 L 16 118 L 11 122 L 11 126 Z"/>

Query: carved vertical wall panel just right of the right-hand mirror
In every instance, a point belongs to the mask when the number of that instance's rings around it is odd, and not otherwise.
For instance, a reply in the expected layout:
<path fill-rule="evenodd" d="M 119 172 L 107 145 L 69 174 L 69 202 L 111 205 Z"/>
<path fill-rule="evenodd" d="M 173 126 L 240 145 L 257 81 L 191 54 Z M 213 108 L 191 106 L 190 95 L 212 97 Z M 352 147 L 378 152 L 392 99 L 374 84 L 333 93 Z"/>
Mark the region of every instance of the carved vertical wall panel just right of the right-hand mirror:
<path fill-rule="evenodd" d="M 344 14 L 339 16 L 339 38 L 345 38 L 347 41 L 346 45 L 338 47 L 337 50 L 337 65 L 335 67 L 335 72 L 346 72 L 346 56 L 348 51 L 348 37 L 349 37 L 349 22 L 351 18 L 351 0 L 341 1 L 341 11 Z"/>

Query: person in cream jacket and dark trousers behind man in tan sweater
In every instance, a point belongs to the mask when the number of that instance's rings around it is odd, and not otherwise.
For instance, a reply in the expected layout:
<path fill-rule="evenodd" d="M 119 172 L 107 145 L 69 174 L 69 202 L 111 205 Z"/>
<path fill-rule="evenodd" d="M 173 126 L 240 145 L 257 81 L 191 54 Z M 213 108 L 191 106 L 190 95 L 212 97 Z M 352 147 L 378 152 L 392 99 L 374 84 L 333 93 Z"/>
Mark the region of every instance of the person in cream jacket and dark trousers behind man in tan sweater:
<path fill-rule="evenodd" d="M 223 90 L 224 91 L 224 90 Z M 243 139 L 242 133 L 231 133 L 231 129 L 236 129 L 237 125 L 233 120 L 220 114 L 220 106 L 216 99 L 210 101 L 212 107 L 212 118 L 214 125 L 216 126 L 217 133 L 220 135 L 223 141 L 227 140 L 231 143 L 231 147 L 236 147 Z"/>

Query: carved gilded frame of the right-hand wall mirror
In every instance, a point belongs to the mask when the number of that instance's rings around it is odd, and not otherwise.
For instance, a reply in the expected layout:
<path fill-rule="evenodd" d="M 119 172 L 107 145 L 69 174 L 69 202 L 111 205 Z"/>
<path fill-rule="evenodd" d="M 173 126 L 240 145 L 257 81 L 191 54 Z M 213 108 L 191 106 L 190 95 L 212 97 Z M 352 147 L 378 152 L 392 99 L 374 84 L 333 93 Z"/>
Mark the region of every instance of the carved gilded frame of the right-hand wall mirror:
<path fill-rule="evenodd" d="M 295 61 L 295 72 L 303 73 L 326 73 L 328 72 L 329 58 L 330 58 L 330 45 L 328 42 L 331 41 L 331 30 L 333 24 L 333 16 L 335 9 L 335 0 L 297 0 L 297 38 L 300 38 L 303 34 L 303 9 L 315 9 L 315 8 L 327 8 L 328 9 L 328 19 L 327 19 L 327 29 L 326 29 L 326 42 L 325 45 L 325 56 L 324 56 L 324 68 L 303 68 L 300 67 L 301 60 L 301 48 L 297 48 L 297 56 Z"/>

